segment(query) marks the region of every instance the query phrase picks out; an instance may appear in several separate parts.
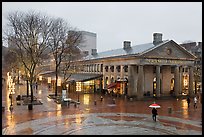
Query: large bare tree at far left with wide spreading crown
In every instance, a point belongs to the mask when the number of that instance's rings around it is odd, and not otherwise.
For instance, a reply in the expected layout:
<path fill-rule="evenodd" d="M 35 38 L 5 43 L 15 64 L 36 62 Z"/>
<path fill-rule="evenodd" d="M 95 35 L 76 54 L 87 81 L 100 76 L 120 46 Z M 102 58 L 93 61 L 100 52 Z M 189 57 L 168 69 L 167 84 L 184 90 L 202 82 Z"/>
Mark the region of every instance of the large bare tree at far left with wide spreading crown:
<path fill-rule="evenodd" d="M 25 72 L 27 72 L 32 104 L 32 84 L 37 76 L 36 66 L 43 60 L 51 22 L 48 17 L 34 11 L 27 13 L 10 12 L 7 19 L 9 29 L 6 37 L 12 43 L 13 52 L 16 52 Z"/>

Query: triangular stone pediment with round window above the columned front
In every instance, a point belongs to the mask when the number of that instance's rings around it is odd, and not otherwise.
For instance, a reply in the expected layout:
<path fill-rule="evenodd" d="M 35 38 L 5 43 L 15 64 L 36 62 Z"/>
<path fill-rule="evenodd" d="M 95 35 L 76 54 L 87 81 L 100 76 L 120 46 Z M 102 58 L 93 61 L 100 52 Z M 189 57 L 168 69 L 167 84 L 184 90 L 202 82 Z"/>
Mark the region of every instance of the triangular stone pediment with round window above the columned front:
<path fill-rule="evenodd" d="M 162 45 L 153 47 L 152 49 L 143 53 L 141 56 L 147 58 L 195 59 L 193 54 L 172 40 Z"/>

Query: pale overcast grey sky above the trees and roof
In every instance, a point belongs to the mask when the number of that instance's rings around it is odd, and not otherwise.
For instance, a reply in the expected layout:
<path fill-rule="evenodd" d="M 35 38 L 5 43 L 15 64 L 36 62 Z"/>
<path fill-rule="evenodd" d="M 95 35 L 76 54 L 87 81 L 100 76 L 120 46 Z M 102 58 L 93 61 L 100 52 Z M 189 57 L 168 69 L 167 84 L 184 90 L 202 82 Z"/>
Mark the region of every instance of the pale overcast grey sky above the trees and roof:
<path fill-rule="evenodd" d="M 35 10 L 61 17 L 97 34 L 97 51 L 152 42 L 154 32 L 177 43 L 202 41 L 201 2 L 2 2 L 2 29 L 9 11 Z"/>

